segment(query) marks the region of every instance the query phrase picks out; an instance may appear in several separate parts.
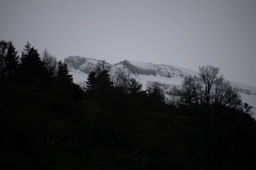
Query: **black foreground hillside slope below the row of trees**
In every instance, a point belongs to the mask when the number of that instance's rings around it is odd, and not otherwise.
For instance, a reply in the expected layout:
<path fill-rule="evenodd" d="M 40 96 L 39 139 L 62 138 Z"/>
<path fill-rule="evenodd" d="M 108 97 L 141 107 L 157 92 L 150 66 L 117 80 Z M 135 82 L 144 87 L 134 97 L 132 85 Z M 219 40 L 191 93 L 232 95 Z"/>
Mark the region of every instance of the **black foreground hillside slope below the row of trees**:
<path fill-rule="evenodd" d="M 108 110 L 33 85 L 0 94 L 1 169 L 255 169 L 255 121 L 237 110 Z"/>

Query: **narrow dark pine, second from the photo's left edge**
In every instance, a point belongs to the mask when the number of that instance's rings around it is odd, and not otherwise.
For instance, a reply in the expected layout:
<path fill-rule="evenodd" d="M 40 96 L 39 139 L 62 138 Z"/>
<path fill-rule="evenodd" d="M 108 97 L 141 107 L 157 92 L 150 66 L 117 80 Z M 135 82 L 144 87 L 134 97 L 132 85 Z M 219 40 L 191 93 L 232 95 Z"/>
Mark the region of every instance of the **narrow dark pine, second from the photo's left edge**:
<path fill-rule="evenodd" d="M 19 59 L 19 56 L 17 56 L 17 51 L 15 50 L 13 43 L 10 41 L 8 43 L 7 55 L 5 58 L 5 63 L 6 63 L 5 72 L 7 75 L 6 80 L 8 82 L 14 81 L 14 79 L 17 75 L 18 59 Z"/>

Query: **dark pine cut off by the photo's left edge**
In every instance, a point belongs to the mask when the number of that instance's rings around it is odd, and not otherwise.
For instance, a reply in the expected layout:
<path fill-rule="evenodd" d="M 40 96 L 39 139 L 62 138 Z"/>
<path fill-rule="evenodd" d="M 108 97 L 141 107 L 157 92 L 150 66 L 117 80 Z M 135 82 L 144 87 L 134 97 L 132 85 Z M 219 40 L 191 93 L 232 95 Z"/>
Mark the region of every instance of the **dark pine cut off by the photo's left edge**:
<path fill-rule="evenodd" d="M 6 58 L 7 42 L 1 40 L 0 42 L 0 82 L 5 81 L 5 58 Z"/>

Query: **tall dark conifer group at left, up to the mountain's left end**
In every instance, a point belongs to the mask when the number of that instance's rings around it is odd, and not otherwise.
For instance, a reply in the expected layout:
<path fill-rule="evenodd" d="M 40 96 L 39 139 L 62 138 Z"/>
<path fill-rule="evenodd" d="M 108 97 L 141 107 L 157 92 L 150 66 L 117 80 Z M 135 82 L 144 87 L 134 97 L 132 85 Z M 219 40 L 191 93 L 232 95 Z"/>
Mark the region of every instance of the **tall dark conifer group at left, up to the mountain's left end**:
<path fill-rule="evenodd" d="M 18 83 L 54 89 L 61 93 L 78 93 L 78 85 L 73 83 L 67 65 L 44 50 L 40 55 L 29 42 L 22 50 L 22 55 L 13 46 L 13 42 L 0 42 L 0 83 Z M 62 92 L 61 92 L 62 91 Z M 75 92 L 76 91 L 76 92 Z"/>

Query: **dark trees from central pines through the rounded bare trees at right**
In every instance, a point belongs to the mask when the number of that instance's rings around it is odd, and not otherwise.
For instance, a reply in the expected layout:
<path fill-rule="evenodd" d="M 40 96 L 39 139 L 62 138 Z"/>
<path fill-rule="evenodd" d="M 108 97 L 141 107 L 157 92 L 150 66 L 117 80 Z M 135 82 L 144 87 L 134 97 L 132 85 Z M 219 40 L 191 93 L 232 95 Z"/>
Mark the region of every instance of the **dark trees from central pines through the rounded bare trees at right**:
<path fill-rule="evenodd" d="M 220 75 L 220 69 L 212 65 L 199 67 L 198 76 L 186 76 L 181 88 L 170 89 L 168 95 L 175 96 L 174 100 L 166 99 L 158 83 L 153 83 L 148 89 L 142 90 L 142 85 L 131 77 L 129 72 L 117 69 L 115 75 L 110 77 L 108 71 L 106 63 L 101 61 L 95 71 L 90 73 L 84 88 L 88 96 L 100 98 L 101 101 L 109 101 L 109 97 L 115 96 L 113 99 L 117 99 L 116 102 L 111 101 L 105 105 L 118 103 L 126 97 L 126 104 L 136 101 L 131 104 L 133 107 L 137 103 L 137 109 L 151 112 L 168 112 L 170 107 L 199 107 L 207 110 L 235 109 L 248 113 L 252 108 L 247 103 L 242 103 L 238 89 L 232 87 L 230 82 Z"/>

